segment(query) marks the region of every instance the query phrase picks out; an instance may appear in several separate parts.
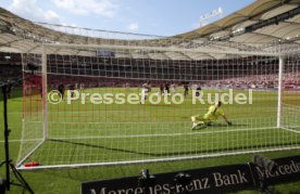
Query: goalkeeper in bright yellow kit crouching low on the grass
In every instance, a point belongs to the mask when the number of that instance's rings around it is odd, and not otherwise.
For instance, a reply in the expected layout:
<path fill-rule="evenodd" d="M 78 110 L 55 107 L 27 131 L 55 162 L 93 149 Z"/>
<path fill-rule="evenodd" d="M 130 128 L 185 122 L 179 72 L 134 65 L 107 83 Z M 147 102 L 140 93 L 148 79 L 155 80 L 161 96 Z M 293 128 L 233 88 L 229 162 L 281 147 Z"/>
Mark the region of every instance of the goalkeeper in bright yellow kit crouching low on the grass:
<path fill-rule="evenodd" d="M 214 105 L 211 105 L 209 112 L 204 116 L 195 115 L 191 117 L 192 127 L 191 129 L 200 129 L 211 126 L 213 121 L 217 120 L 220 116 L 227 122 L 228 126 L 233 124 L 226 118 L 223 109 L 221 108 L 222 102 L 217 102 Z"/>

